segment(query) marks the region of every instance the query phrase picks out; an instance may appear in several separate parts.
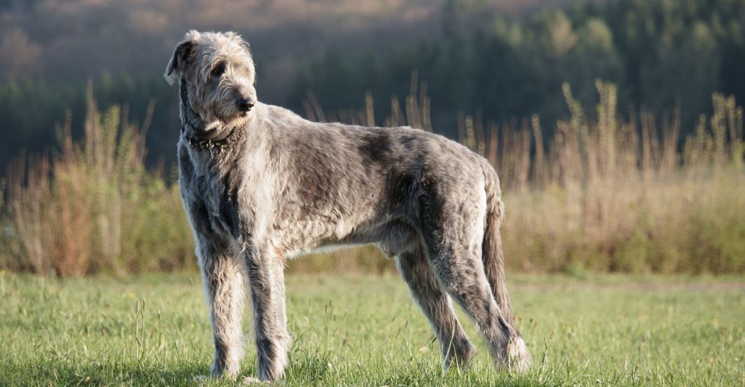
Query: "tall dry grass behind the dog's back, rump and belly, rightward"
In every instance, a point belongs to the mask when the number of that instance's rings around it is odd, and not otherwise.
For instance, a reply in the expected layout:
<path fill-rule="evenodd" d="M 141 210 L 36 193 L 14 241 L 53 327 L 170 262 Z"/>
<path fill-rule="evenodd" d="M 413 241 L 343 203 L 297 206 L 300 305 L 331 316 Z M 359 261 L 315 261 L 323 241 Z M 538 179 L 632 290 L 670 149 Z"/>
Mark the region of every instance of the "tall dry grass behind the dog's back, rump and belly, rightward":
<path fill-rule="evenodd" d="M 714 113 L 701 115 L 693 135 L 681 138 L 679 112 L 618 114 L 616 87 L 597 81 L 599 102 L 586 113 L 563 86 L 570 118 L 545 138 L 537 116 L 520 123 L 486 123 L 480 113 L 460 115 L 458 140 L 491 162 L 504 191 L 503 226 L 508 266 L 557 272 L 745 272 L 743 109 L 734 97 L 713 95 Z M 386 126 L 431 130 L 425 87 L 413 76 L 405 108 L 393 98 Z M 311 119 L 323 120 L 311 102 Z M 375 124 L 365 109 L 329 115 L 351 124 Z M 365 270 L 367 254 L 337 252 L 337 264 Z M 363 255 L 364 258 L 363 258 Z M 378 258 L 379 260 L 383 258 Z M 311 257 L 303 270 L 325 270 Z M 314 263 L 314 261 L 316 263 Z"/>

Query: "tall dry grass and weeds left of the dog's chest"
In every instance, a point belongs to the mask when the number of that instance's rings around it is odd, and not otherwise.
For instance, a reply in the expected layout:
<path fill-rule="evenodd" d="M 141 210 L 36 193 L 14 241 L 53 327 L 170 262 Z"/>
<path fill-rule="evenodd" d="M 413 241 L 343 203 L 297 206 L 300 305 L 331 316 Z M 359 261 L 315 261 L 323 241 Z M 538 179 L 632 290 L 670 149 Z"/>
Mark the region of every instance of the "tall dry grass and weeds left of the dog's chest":
<path fill-rule="evenodd" d="M 87 103 L 82 141 L 68 118 L 59 152 L 9 168 L 0 264 L 60 276 L 194 266 L 177 187 L 145 168 L 150 114 L 139 130 L 126 108 L 99 112 L 91 84 Z"/>

